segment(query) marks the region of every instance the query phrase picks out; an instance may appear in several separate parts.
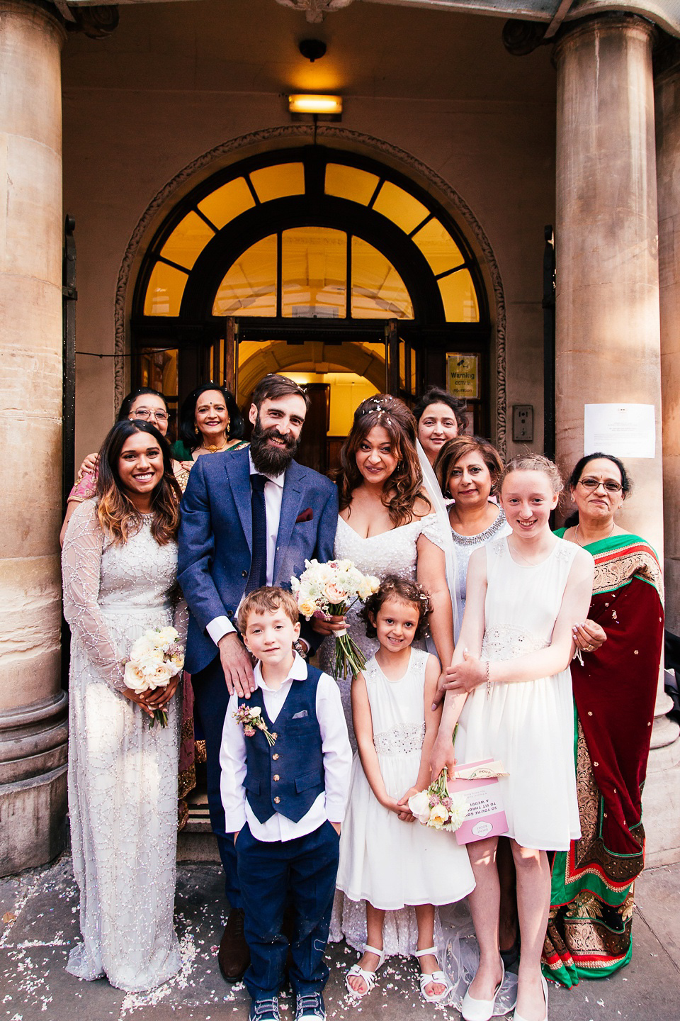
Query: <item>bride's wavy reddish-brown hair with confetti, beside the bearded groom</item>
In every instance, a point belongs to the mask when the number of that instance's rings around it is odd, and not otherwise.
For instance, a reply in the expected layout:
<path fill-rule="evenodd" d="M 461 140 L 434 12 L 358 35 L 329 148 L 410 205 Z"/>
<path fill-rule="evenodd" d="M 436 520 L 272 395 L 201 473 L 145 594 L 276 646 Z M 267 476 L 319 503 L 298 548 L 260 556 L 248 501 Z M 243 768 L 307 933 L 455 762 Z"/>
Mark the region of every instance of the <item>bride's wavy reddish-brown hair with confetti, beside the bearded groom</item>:
<path fill-rule="evenodd" d="M 398 458 L 397 468 L 382 490 L 382 503 L 397 528 L 413 521 L 417 499 L 431 509 L 423 491 L 423 473 L 416 452 L 416 420 L 403 400 L 378 393 L 361 402 L 354 412 L 350 435 L 341 448 L 341 467 L 332 473 L 332 478 L 337 483 L 339 508 L 344 510 L 352 502 L 354 490 L 364 481 L 357 468 L 357 450 L 361 441 L 376 426 L 384 429 L 389 436 L 393 452 Z"/>

